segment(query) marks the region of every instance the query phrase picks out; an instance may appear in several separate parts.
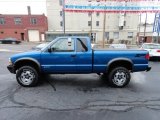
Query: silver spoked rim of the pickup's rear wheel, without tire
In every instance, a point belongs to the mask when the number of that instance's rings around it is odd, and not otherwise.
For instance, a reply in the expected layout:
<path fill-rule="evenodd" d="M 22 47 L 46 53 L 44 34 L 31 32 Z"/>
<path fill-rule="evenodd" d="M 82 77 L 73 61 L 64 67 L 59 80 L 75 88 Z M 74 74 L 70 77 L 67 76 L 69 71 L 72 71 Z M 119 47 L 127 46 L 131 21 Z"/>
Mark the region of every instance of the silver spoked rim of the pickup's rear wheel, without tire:
<path fill-rule="evenodd" d="M 123 86 L 126 80 L 127 80 L 127 76 L 123 71 L 117 71 L 113 76 L 113 82 L 117 86 Z"/>

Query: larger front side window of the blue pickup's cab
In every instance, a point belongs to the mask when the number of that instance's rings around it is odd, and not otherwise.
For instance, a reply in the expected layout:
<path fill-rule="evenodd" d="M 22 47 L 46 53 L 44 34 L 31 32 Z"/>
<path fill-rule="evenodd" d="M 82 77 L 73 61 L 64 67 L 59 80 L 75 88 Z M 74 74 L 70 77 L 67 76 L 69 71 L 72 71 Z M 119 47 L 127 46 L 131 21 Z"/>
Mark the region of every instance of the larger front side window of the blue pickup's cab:
<path fill-rule="evenodd" d="M 51 50 L 54 52 L 73 52 L 74 40 L 62 38 L 51 46 Z"/>

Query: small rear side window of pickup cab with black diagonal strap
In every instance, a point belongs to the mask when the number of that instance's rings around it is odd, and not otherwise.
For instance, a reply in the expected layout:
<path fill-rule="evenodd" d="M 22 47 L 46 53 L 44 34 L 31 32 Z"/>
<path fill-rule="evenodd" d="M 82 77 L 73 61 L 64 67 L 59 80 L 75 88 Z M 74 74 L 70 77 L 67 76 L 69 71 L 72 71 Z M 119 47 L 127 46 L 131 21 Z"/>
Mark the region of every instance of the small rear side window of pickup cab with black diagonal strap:
<path fill-rule="evenodd" d="M 88 51 L 87 40 L 85 38 L 77 38 L 77 52 L 86 52 Z"/>

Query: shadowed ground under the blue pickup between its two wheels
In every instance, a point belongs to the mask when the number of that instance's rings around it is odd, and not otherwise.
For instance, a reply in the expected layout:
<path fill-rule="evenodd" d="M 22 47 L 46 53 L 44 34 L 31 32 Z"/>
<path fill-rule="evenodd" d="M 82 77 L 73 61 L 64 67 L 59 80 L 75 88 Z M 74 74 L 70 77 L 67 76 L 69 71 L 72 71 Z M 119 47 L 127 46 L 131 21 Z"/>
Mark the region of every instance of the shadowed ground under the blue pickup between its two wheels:
<path fill-rule="evenodd" d="M 103 76 L 96 74 L 70 74 L 70 75 L 47 75 L 42 78 L 41 85 L 51 84 L 55 88 L 58 86 L 79 87 L 79 88 L 99 88 L 110 87 Z"/>

